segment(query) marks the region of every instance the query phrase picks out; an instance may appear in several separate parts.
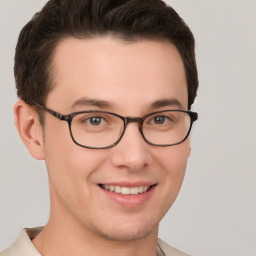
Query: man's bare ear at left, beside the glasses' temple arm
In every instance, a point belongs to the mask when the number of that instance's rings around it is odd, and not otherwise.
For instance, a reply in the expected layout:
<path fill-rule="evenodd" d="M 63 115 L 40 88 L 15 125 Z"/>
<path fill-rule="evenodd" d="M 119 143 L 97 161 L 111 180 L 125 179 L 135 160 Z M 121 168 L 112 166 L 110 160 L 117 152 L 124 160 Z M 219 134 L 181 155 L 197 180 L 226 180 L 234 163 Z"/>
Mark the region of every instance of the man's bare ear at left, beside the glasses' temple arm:
<path fill-rule="evenodd" d="M 20 138 L 30 154 L 38 160 L 44 160 L 43 128 L 35 109 L 23 100 L 18 100 L 14 105 L 14 119 Z"/>

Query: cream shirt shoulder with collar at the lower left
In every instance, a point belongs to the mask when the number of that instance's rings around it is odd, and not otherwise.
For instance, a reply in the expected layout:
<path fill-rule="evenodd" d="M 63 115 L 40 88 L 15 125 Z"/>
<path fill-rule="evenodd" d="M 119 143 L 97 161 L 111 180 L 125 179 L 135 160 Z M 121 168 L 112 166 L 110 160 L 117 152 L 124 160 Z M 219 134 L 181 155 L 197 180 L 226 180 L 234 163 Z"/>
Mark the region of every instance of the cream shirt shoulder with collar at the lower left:
<path fill-rule="evenodd" d="M 40 256 L 31 239 L 40 233 L 42 227 L 23 229 L 18 239 L 0 256 Z"/>

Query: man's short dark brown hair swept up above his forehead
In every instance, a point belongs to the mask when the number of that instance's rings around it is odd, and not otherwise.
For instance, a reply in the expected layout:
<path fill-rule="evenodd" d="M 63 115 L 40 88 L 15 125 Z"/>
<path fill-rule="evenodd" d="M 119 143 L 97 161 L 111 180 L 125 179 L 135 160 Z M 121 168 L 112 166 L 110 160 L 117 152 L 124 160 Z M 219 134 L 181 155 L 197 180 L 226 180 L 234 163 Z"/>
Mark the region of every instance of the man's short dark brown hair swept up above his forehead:
<path fill-rule="evenodd" d="M 191 108 L 198 88 L 194 37 L 175 10 L 161 0 L 49 0 L 19 35 L 14 65 L 18 97 L 45 104 L 53 87 L 52 56 L 61 39 L 108 34 L 125 41 L 173 43 L 184 63 Z"/>

